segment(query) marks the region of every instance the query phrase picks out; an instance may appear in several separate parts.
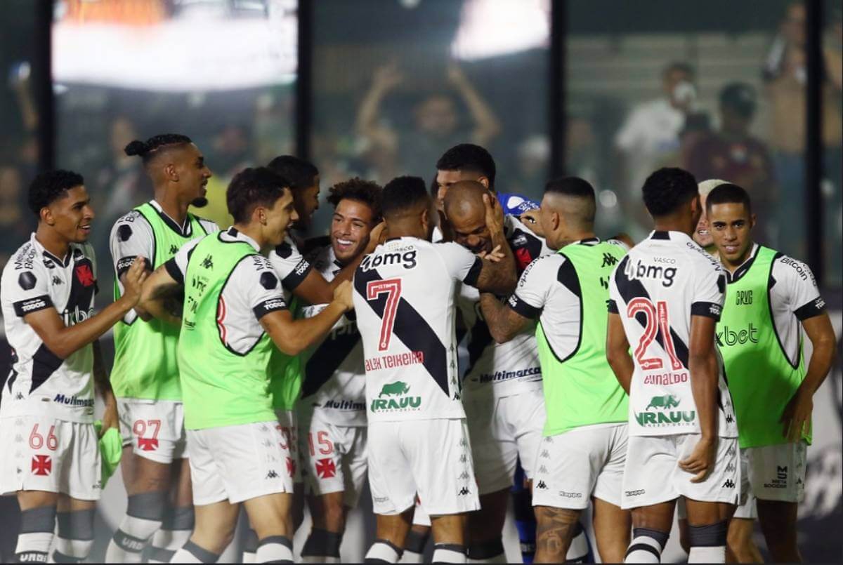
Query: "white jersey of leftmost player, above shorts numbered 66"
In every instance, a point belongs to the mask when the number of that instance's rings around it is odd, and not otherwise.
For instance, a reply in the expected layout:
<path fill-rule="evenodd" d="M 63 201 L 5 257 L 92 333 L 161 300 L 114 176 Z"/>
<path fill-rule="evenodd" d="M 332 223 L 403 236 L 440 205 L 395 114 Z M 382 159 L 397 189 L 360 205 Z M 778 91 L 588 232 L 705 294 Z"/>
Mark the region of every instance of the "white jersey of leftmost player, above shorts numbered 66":
<path fill-rule="evenodd" d="M 94 248 L 88 243 L 72 243 L 59 259 L 33 233 L 12 255 L 0 281 L 3 323 L 13 352 L 0 417 L 45 414 L 69 422 L 94 421 L 93 346 L 62 360 L 24 316 L 54 307 L 69 327 L 94 315 L 96 292 Z"/>

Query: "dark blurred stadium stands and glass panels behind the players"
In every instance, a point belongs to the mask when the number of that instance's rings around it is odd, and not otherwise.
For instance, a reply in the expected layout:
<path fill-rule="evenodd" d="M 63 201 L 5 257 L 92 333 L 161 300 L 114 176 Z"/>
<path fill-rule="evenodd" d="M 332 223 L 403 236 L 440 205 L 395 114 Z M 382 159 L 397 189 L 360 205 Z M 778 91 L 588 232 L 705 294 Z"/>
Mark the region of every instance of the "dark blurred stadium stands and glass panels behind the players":
<path fill-rule="evenodd" d="M 646 158 L 653 168 L 716 170 L 720 157 L 701 153 L 695 143 L 717 141 L 722 88 L 738 82 L 754 90 L 747 136 L 756 143 L 748 158 L 764 164 L 742 169 L 742 179 L 764 203 L 756 238 L 808 262 L 840 338 L 840 0 L 795 3 L 803 19 L 790 28 L 794 3 L 785 0 L 133 0 L 135 9 L 127 11 L 129 4 L 4 0 L 0 6 L 0 266 L 34 227 L 25 209 L 30 179 L 42 168 L 72 168 L 84 174 L 98 211 L 99 301 L 109 301 L 110 225 L 149 198 L 138 163 L 120 155 L 132 137 L 191 136 L 217 183 L 210 187 L 216 201 L 203 213 L 223 222 L 219 195 L 226 180 L 284 152 L 317 164 L 323 196 L 330 184 L 355 174 L 381 182 L 395 173 L 430 179 L 430 155 L 478 126 L 466 83 L 497 125 L 488 147 L 497 160 L 498 190 L 538 196 L 550 175 L 583 176 L 598 190 L 599 231 L 640 238 L 648 227 L 631 168 L 620 164 L 618 139 L 631 111 L 660 96 L 663 67 L 678 61 L 695 70 L 695 108 L 671 147 Z M 254 24 L 266 33 L 250 35 Z M 794 25 L 802 27 L 794 31 Z M 158 41 L 131 40 L 146 31 Z M 797 32 L 805 64 L 797 88 L 787 91 L 794 83 L 777 66 L 776 48 Z M 461 69 L 462 83 L 448 73 L 449 61 Z M 386 162 L 356 121 L 373 77 L 389 64 L 400 81 L 380 102 L 377 123 L 401 148 Z M 167 80 L 155 82 L 161 76 Z M 439 114 L 430 115 L 425 104 L 437 96 Z M 440 123 L 433 135 L 420 125 L 426 111 L 453 125 Z M 642 164 L 635 158 L 632 165 Z M 325 208 L 314 235 L 330 217 Z M 103 342 L 110 354 L 110 337 Z M 800 508 L 800 544 L 813 562 L 840 560 L 838 349 L 835 370 L 815 400 L 815 443 Z M 3 346 L 0 380 L 6 366 Z M 11 555 L 14 506 L 11 498 L 0 501 L 0 561 Z M 104 513 L 100 520 L 106 540 L 114 524 Z M 368 532 L 369 523 L 359 528 Z M 95 549 L 92 557 L 101 555 Z M 675 551 L 666 557 L 682 558 Z"/>

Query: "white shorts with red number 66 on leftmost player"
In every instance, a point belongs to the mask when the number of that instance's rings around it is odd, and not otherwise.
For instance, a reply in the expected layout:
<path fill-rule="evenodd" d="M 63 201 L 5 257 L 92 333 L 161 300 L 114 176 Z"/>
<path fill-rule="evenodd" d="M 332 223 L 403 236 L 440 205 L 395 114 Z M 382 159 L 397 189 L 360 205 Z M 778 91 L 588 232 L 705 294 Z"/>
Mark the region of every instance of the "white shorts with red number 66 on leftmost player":
<path fill-rule="evenodd" d="M 46 415 L 0 419 L 0 493 L 40 490 L 99 500 L 99 438 L 94 424 Z"/>

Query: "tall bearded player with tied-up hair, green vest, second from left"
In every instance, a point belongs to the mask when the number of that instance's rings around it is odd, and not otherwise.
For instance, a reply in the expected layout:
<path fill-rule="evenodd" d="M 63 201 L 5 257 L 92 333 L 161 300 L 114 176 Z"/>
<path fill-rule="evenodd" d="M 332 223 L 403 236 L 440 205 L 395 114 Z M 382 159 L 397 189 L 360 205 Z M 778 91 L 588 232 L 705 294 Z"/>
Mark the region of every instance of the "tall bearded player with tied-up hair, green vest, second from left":
<path fill-rule="evenodd" d="M 115 300 L 122 296 L 126 272 L 137 257 L 157 269 L 196 237 L 217 232 L 217 224 L 187 211 L 207 204 L 211 171 L 187 136 L 163 134 L 132 141 L 126 155 L 141 157 L 153 183 L 153 199 L 115 222 L 110 250 L 117 278 Z M 180 301 L 174 300 L 175 316 Z M 150 317 L 141 306 L 114 328 L 115 360 L 111 384 L 123 435 L 121 470 L 128 505 L 110 541 L 108 562 L 141 562 L 152 538 L 149 558 L 169 562 L 193 529 L 193 498 L 187 465 L 184 413 L 175 347 L 179 326 Z"/>

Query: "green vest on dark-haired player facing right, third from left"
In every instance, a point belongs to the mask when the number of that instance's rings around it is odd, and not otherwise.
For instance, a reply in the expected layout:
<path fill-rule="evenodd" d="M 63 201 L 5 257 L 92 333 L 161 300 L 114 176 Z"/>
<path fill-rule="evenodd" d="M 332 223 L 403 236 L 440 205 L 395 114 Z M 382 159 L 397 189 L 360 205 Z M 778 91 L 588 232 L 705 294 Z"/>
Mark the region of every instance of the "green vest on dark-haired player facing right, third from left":
<path fill-rule="evenodd" d="M 275 419 L 269 393 L 271 350 L 262 333 L 246 353 L 228 349 L 223 327 L 223 287 L 234 268 L 255 248 L 223 242 L 220 234 L 196 245 L 185 273 L 185 311 L 181 318 L 178 360 L 185 403 L 185 429 L 206 429 Z"/>

